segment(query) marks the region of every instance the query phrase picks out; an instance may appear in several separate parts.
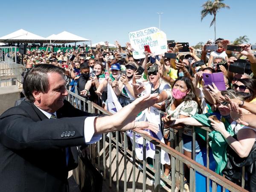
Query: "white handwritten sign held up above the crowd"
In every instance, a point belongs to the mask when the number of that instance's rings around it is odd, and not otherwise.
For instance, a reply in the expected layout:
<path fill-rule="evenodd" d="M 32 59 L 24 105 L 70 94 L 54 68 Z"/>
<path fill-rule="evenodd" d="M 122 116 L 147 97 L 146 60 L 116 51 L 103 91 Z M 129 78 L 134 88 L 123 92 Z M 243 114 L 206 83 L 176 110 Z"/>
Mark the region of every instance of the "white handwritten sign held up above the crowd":
<path fill-rule="evenodd" d="M 167 52 L 167 38 L 163 31 L 157 27 L 150 27 L 139 31 L 129 32 L 131 47 L 134 49 L 135 59 L 145 58 L 144 45 L 149 45 L 154 55 Z"/>

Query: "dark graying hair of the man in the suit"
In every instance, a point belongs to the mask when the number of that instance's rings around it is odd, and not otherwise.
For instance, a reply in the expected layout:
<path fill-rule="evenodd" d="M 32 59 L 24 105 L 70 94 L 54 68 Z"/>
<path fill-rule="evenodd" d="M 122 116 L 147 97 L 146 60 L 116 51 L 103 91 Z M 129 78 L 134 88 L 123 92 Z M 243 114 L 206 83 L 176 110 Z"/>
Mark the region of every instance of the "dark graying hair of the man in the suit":
<path fill-rule="evenodd" d="M 65 70 L 52 64 L 38 64 L 26 73 L 23 82 L 23 90 L 29 102 L 34 102 L 33 92 L 35 90 L 47 93 L 49 90 L 48 73 L 59 73 L 63 75 Z"/>

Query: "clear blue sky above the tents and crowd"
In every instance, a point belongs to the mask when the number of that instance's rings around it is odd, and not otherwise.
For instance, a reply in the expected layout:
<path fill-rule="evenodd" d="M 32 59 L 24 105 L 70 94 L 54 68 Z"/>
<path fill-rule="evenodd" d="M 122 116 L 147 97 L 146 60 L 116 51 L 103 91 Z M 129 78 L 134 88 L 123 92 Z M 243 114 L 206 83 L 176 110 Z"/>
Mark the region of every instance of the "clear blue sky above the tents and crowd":
<path fill-rule="evenodd" d="M 128 32 L 158 27 L 168 40 L 189 42 L 214 39 L 214 27 L 209 28 L 212 16 L 201 22 L 201 5 L 206 0 L 23 0 L 1 2 L 0 37 L 25 29 L 47 37 L 68 31 L 96 43 L 129 41 Z M 230 9 L 221 9 L 216 18 L 217 38 L 230 41 L 247 35 L 256 43 L 255 0 L 225 0 Z M 246 11 L 246 12 L 245 12 Z"/>

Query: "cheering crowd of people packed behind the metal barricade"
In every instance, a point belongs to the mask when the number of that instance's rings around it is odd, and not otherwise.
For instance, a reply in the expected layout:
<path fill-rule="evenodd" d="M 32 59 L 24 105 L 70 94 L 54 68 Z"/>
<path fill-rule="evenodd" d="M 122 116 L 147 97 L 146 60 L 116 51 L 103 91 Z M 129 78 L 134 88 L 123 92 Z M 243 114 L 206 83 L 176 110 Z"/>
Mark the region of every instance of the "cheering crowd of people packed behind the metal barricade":
<path fill-rule="evenodd" d="M 88 51 L 85 47 L 65 52 L 28 50 L 23 63 L 26 70 L 38 64 L 53 64 L 65 69 L 68 90 L 108 109 L 108 86 L 111 86 L 122 106 L 128 105 L 145 93 L 157 93 L 157 104 L 150 107 L 159 124 L 166 145 L 170 128 L 182 129 L 183 150 L 192 157 L 192 126 L 196 126 L 195 151 L 204 148 L 206 132 L 202 126 L 212 128 L 209 134 L 216 172 L 233 182 L 241 183 L 241 166 L 247 166 L 247 189 L 256 191 L 256 56 L 250 44 L 239 45 L 239 52 L 227 49 L 231 43 L 218 38 L 209 39 L 201 54 L 193 47 L 189 52 L 178 42 L 168 44 L 165 54 L 154 55 L 145 51 L 145 58 L 134 59 L 130 43 L 111 51 L 108 42 Z M 207 50 L 209 45 L 216 50 Z M 125 53 L 125 54 L 123 54 Z M 26 73 L 26 72 L 25 72 Z M 160 118 L 160 111 L 165 113 Z M 239 163 L 240 164 L 239 164 Z M 241 164 L 241 162 L 244 162 Z M 189 173 L 185 177 L 189 177 Z M 188 169 L 187 169 L 188 170 Z M 170 177 L 170 166 L 165 165 L 165 177 Z"/>

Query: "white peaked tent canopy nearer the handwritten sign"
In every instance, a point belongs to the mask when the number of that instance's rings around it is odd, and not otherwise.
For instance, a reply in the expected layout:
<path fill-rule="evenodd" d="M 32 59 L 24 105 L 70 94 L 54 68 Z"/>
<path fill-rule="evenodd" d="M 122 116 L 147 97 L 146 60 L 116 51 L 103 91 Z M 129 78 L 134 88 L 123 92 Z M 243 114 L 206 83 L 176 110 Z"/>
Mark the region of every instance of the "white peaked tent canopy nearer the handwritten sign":
<path fill-rule="evenodd" d="M 50 35 L 46 38 L 48 41 L 52 41 L 52 43 L 73 43 L 73 42 L 81 42 L 81 41 L 90 41 L 89 39 L 82 38 L 78 35 L 72 34 L 70 32 L 64 31 L 57 35 Z"/>

